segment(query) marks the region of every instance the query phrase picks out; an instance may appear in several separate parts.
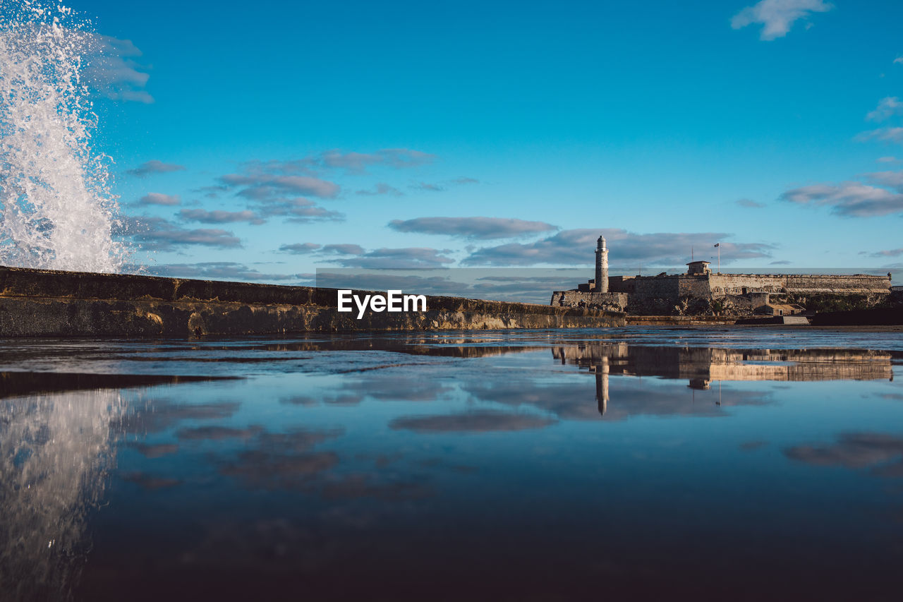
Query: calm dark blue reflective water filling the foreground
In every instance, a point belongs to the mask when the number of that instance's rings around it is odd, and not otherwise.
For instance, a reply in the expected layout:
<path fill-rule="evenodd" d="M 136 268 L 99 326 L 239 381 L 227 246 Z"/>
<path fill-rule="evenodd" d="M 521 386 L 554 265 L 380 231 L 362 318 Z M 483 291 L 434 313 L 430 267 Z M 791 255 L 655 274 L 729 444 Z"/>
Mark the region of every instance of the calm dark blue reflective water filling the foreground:
<path fill-rule="evenodd" d="M 903 333 L 0 348 L 0 598 L 900 599 Z"/>

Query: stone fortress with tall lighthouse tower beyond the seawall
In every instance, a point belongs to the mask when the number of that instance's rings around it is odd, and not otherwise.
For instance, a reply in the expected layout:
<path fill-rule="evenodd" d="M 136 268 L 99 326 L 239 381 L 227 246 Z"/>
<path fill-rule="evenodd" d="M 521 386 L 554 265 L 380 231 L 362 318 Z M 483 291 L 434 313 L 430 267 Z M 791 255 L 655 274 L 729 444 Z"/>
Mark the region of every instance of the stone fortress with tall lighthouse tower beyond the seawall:
<path fill-rule="evenodd" d="M 875 306 L 891 293 L 890 274 L 724 274 L 691 261 L 684 274 L 609 276 L 605 237 L 596 242 L 595 278 L 555 291 L 552 306 L 632 315 L 799 315 L 821 304 Z"/>

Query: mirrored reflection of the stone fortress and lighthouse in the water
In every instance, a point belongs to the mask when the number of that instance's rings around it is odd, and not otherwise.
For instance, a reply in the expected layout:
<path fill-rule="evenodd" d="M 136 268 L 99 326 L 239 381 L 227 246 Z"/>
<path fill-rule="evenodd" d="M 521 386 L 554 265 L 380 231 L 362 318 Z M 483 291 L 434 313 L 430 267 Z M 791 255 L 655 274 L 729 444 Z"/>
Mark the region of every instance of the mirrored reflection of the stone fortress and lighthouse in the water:
<path fill-rule="evenodd" d="M 849 349 L 720 349 L 591 343 L 554 347 L 553 357 L 596 375 L 596 399 L 605 413 L 609 376 L 657 376 L 708 389 L 712 381 L 893 380 L 888 352 Z"/>

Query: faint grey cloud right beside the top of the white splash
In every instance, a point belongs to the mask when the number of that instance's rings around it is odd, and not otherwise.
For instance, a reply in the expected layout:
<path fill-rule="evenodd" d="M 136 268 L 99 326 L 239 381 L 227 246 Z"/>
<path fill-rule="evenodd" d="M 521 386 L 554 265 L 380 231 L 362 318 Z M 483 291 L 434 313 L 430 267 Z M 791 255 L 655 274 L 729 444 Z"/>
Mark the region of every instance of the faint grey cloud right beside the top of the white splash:
<path fill-rule="evenodd" d="M 133 100 L 150 104 L 154 97 L 144 89 L 150 75 L 135 59 L 142 55 L 131 40 L 95 34 L 93 52 L 88 56 L 85 77 L 108 99 Z"/>

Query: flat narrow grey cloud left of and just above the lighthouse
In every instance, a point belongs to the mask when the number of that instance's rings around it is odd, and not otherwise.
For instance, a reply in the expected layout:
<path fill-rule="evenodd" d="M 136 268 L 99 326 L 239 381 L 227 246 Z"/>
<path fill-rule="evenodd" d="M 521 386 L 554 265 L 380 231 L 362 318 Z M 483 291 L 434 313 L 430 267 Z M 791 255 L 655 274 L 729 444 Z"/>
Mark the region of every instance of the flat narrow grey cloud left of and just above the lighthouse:
<path fill-rule="evenodd" d="M 393 220 L 388 227 L 398 232 L 444 234 L 470 240 L 511 239 L 530 234 L 558 230 L 545 221 L 489 217 L 424 217 Z"/>

